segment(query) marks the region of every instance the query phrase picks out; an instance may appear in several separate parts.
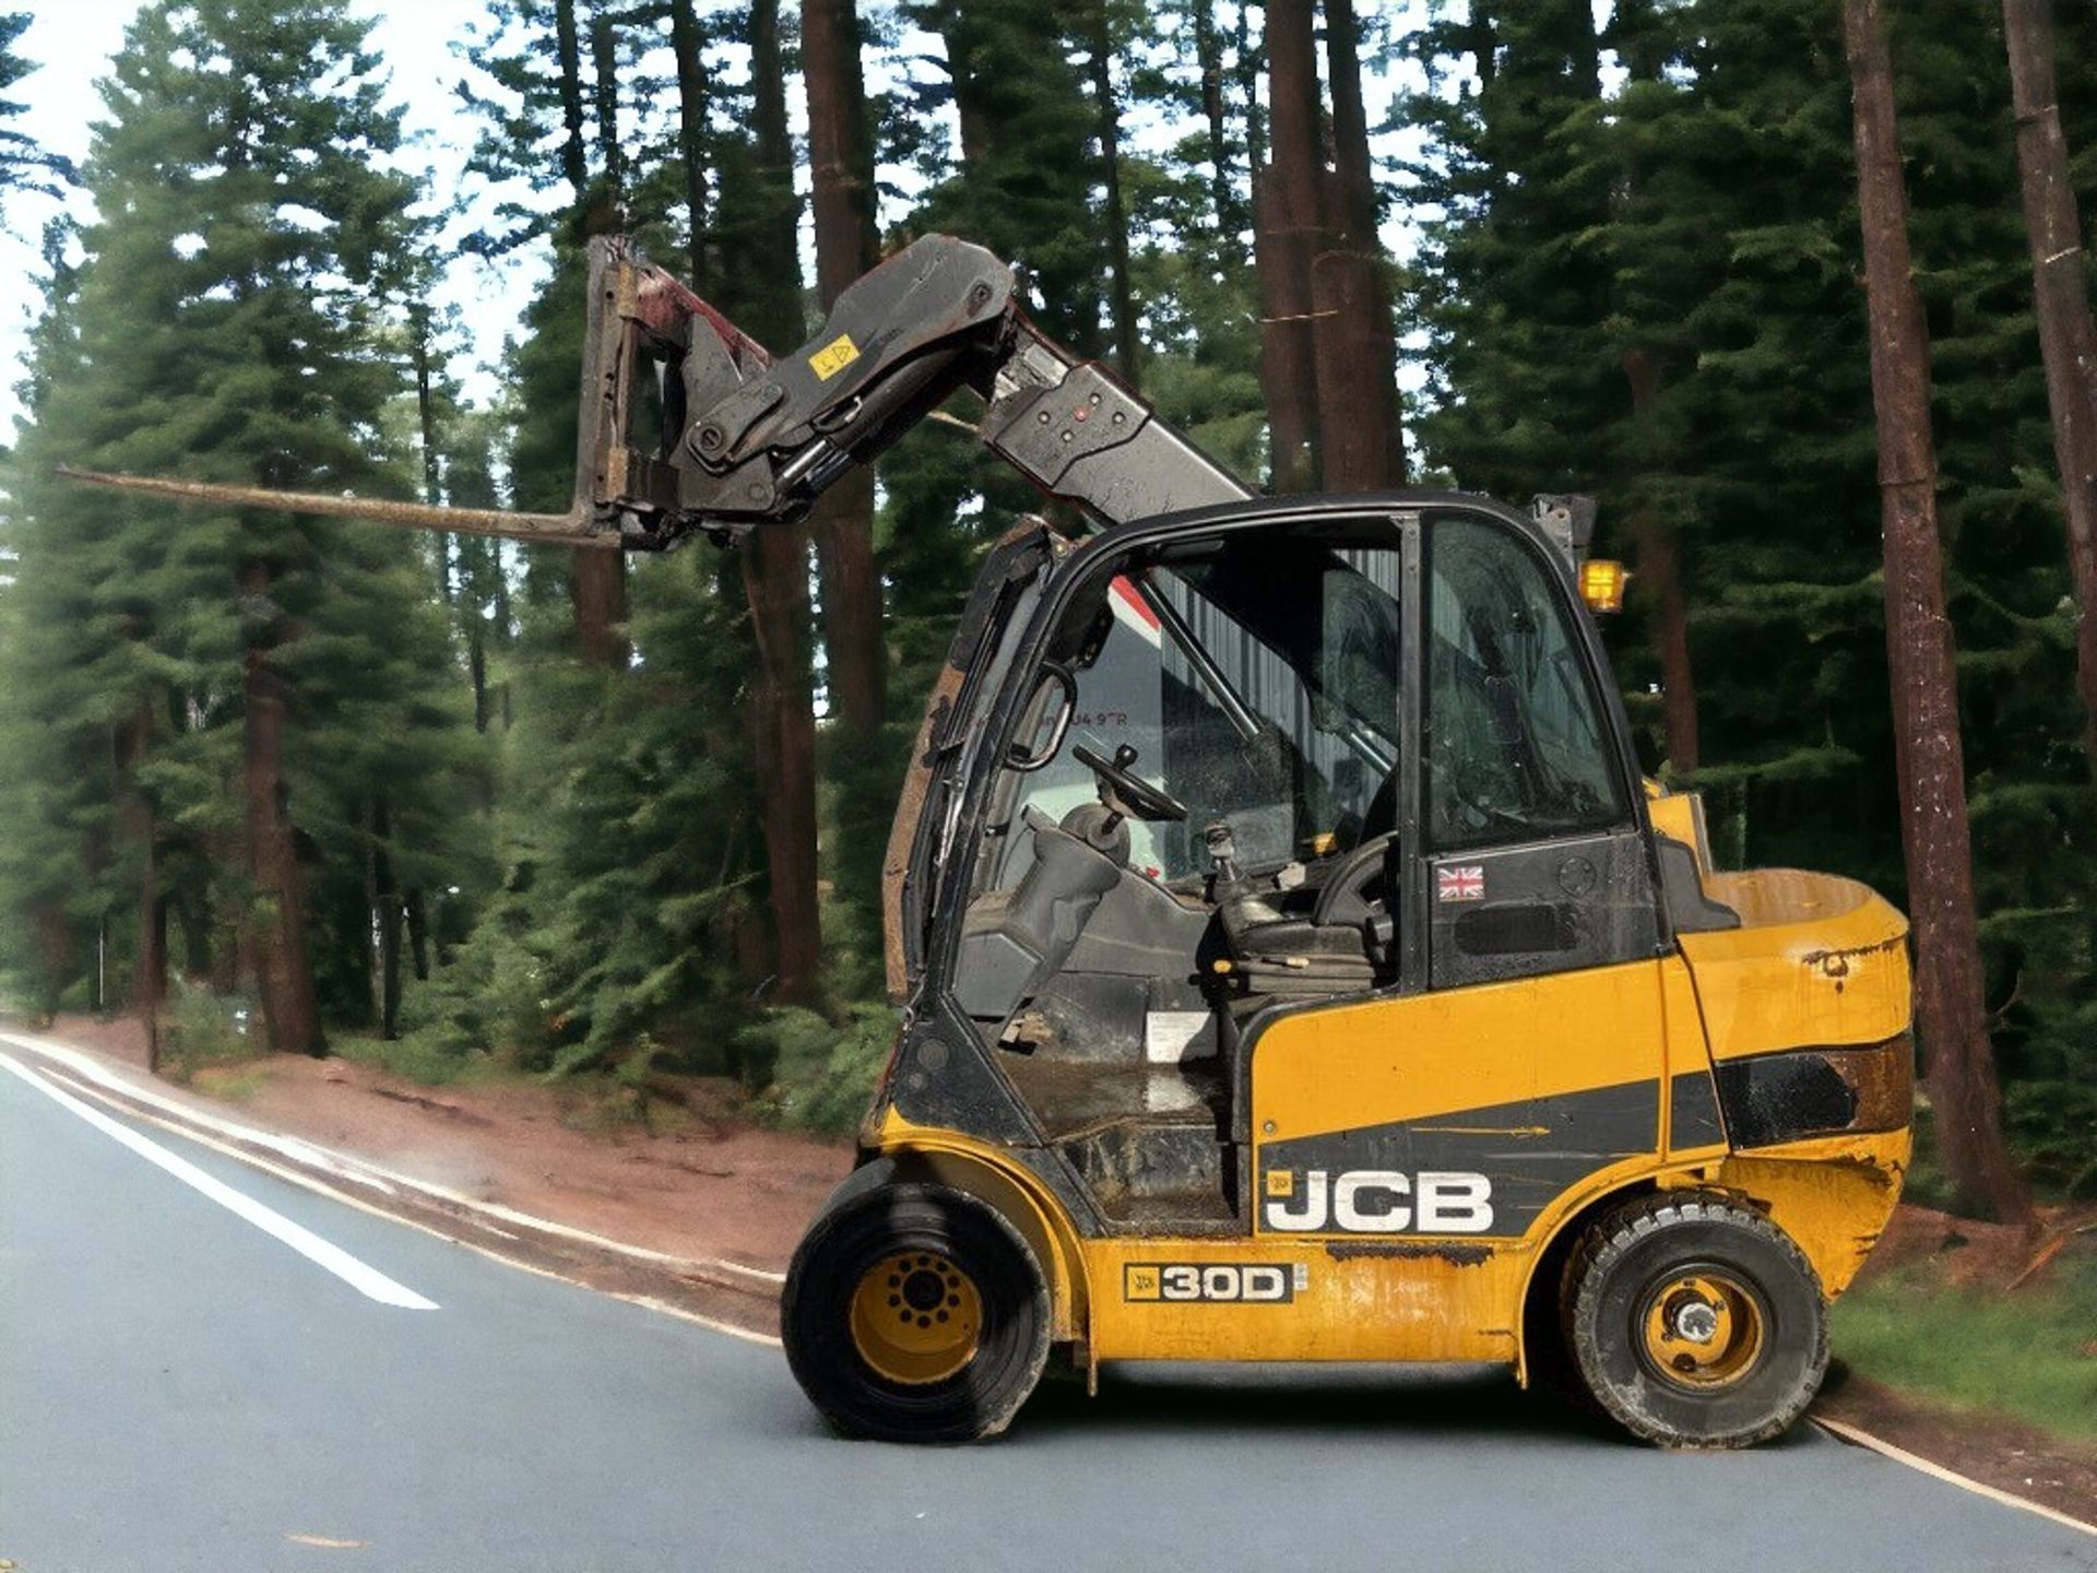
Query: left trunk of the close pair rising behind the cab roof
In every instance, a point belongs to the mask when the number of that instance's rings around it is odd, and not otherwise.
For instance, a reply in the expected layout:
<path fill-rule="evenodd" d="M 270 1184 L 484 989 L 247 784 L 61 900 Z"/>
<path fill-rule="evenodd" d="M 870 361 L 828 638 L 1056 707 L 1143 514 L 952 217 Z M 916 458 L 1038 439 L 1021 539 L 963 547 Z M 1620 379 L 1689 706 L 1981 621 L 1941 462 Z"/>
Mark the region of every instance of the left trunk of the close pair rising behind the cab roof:
<path fill-rule="evenodd" d="M 1260 277 L 1260 390 L 1275 491 L 1319 484 L 1311 258 L 1317 250 L 1317 61 L 1311 0 L 1267 6 L 1273 161 L 1254 174 L 1254 266 Z"/>

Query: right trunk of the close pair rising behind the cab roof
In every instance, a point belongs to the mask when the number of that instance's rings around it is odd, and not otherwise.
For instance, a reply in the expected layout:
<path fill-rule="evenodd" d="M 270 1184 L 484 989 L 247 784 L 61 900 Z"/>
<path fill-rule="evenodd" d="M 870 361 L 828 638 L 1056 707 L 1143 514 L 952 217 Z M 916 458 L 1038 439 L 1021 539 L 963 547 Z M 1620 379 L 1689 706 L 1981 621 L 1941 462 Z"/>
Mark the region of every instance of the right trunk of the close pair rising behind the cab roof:
<path fill-rule="evenodd" d="M 1325 233 L 1311 264 L 1319 464 L 1327 491 L 1403 487 L 1399 342 L 1384 243 L 1376 231 L 1376 170 L 1361 105 L 1353 0 L 1325 0 L 1325 76 L 1336 172 L 1319 180 Z"/>

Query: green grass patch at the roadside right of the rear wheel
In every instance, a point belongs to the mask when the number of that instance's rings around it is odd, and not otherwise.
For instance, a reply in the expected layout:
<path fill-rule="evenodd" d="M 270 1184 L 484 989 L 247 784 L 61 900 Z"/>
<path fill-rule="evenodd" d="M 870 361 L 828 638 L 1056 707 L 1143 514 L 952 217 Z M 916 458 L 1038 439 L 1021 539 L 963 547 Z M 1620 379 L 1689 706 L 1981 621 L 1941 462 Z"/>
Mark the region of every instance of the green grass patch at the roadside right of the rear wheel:
<path fill-rule="evenodd" d="M 1887 1273 L 1835 1302 L 1835 1353 L 1885 1386 L 2097 1441 L 2097 1237 L 2009 1294 L 1927 1263 Z"/>

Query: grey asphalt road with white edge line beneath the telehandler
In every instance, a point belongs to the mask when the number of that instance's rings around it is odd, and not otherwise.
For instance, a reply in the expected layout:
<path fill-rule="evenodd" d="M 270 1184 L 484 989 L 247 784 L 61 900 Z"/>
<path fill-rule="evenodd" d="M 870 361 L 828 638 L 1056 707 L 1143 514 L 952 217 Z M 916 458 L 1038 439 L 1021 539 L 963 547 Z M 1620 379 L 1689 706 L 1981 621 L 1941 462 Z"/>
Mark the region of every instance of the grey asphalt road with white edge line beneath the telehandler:
<path fill-rule="evenodd" d="M 1810 1428 L 1657 1453 L 1499 1374 L 1109 1372 L 981 1447 L 845 1443 L 776 1349 L 117 1124 L 296 1227 L 0 1065 L 21 1573 L 2097 1569 L 2097 1537 Z"/>

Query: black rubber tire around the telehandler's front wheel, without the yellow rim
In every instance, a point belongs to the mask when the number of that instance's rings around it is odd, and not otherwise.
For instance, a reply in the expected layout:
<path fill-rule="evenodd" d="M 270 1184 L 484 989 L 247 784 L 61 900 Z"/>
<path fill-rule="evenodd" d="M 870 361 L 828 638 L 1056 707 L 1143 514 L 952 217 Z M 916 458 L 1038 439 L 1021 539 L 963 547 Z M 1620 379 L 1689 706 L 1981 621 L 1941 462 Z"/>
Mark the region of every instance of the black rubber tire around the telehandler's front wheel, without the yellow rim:
<path fill-rule="evenodd" d="M 975 1355 L 939 1382 L 893 1382 L 851 1338 L 860 1277 L 900 1250 L 946 1256 L 981 1298 Z M 847 1437 L 975 1441 L 1004 1430 L 1040 1382 L 1048 1286 L 996 1208 L 939 1185 L 883 1185 L 845 1195 L 803 1235 L 780 1296 L 780 1336 L 801 1391 Z"/>

